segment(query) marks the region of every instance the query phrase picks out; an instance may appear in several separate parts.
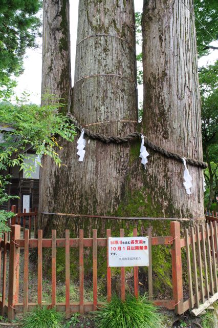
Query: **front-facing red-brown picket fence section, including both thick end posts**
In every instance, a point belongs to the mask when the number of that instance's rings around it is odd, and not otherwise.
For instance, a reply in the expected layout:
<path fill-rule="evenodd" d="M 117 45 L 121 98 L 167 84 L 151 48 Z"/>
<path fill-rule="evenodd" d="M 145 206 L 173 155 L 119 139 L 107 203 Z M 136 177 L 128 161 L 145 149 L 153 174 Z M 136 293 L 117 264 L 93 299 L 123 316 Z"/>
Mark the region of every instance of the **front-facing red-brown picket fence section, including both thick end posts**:
<path fill-rule="evenodd" d="M 175 309 L 178 303 L 178 299 L 181 297 L 181 290 L 179 289 L 178 279 L 182 278 L 181 271 L 178 272 L 178 253 L 180 250 L 180 241 L 176 234 L 179 232 L 179 222 L 171 222 L 171 236 L 165 237 L 152 237 L 151 229 L 148 230 L 149 245 L 171 245 L 172 252 L 172 285 L 173 285 L 173 299 L 169 300 L 154 300 L 158 305 L 165 306 L 168 309 Z M 133 231 L 134 236 L 137 236 L 137 229 Z M 107 250 L 107 301 L 112 297 L 112 274 L 111 268 L 108 267 L 108 237 L 111 236 L 111 230 L 107 230 L 106 238 L 97 238 L 97 230 L 93 230 L 92 238 L 84 238 L 83 230 L 79 231 L 79 238 L 70 238 L 70 231 L 66 230 L 65 238 L 56 238 L 56 231 L 52 230 L 52 238 L 43 239 L 42 231 L 38 230 L 38 238 L 30 239 L 29 230 L 25 231 L 24 238 L 20 238 L 20 226 L 15 224 L 11 226 L 11 242 L 7 242 L 7 239 L 1 241 L 2 249 L 8 249 L 9 252 L 9 290 L 8 290 L 8 304 L 5 301 L 5 294 L 3 293 L 2 302 L 0 303 L 2 312 L 8 311 L 8 318 L 13 320 L 16 312 L 30 311 L 33 306 L 42 304 L 42 250 L 43 248 L 50 248 L 52 252 L 52 266 L 51 266 L 51 303 L 46 304 L 48 306 L 56 306 L 59 311 L 65 311 L 66 316 L 69 317 L 72 312 L 84 313 L 87 311 L 93 311 L 101 306 L 103 303 L 97 301 L 98 296 L 98 258 L 97 248 L 102 247 Z M 120 230 L 120 236 L 124 236 L 124 230 Z M 93 302 L 84 302 L 84 248 L 90 247 L 93 249 Z M 29 250 L 37 248 L 38 260 L 37 260 L 37 303 L 28 302 L 29 286 Z M 65 248 L 66 257 L 66 301 L 64 303 L 56 302 L 56 250 L 57 248 Z M 77 248 L 79 250 L 79 302 L 70 302 L 70 249 Z M 20 249 L 24 249 L 24 295 L 23 302 L 18 302 L 19 294 L 19 253 Z M 6 260 L 3 260 L 3 266 L 6 265 L 7 252 L 3 251 Z M 151 247 L 149 249 L 149 258 L 151 259 Z M 5 281 L 6 275 L 3 274 Z M 138 281 L 138 267 L 134 268 L 134 294 L 136 297 L 139 295 L 139 281 Z M 148 288 L 149 298 L 152 300 L 152 264 L 150 263 L 148 271 Z M 125 299 L 125 268 L 121 268 L 120 274 L 120 289 L 121 298 Z"/>

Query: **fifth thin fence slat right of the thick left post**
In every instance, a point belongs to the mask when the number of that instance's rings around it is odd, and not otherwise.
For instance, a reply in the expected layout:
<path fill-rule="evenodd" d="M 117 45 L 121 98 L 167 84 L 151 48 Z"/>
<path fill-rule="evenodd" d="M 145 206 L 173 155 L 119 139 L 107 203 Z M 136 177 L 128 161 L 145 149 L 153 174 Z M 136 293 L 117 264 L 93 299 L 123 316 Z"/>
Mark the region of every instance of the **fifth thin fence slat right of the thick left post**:
<path fill-rule="evenodd" d="M 79 230 L 79 313 L 84 313 L 83 230 Z"/>

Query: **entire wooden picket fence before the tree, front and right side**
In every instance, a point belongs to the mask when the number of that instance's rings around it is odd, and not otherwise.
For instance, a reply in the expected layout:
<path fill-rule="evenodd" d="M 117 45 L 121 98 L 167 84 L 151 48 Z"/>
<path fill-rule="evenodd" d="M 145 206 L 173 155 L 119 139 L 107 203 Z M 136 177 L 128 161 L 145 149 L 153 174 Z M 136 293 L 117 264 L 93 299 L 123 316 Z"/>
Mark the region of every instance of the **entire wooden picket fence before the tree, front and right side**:
<path fill-rule="evenodd" d="M 29 215 L 29 213 L 28 213 Z M 31 213 L 32 215 L 32 213 Z M 17 218 L 19 216 L 16 216 Z M 12 222 L 14 223 L 14 221 Z M 20 238 L 20 226 L 14 224 L 11 227 L 10 242 L 7 233 L 1 242 L 0 262 L 2 263 L 2 300 L 0 301 L 0 311 L 7 313 L 9 320 L 13 320 L 17 312 L 31 311 L 37 304 L 42 304 L 42 249 L 50 248 L 52 254 L 51 261 L 51 303 L 43 303 L 48 306 L 56 306 L 58 311 L 65 311 L 69 318 L 73 312 L 89 312 L 96 310 L 103 303 L 98 302 L 98 248 L 106 249 L 105 260 L 107 260 L 106 289 L 107 301 L 112 296 L 112 272 L 108 267 L 108 237 L 111 230 L 106 231 L 105 238 L 97 238 L 97 230 L 93 230 L 92 238 L 83 238 L 83 230 L 79 231 L 79 238 L 70 238 L 70 231 L 66 230 L 65 238 L 57 239 L 56 231 L 52 230 L 52 238 L 43 239 L 42 231 L 38 230 L 38 238 L 30 238 L 29 229 L 24 232 L 24 238 Z M 137 236 L 137 229 L 133 235 Z M 216 221 L 206 223 L 202 226 L 191 228 L 185 231 L 185 237 L 180 236 L 180 223 L 170 222 L 170 236 L 154 237 L 151 229 L 145 234 L 149 237 L 149 267 L 148 267 L 148 296 L 155 304 L 164 306 L 169 310 L 175 310 L 182 314 L 188 309 L 199 308 L 200 302 L 204 304 L 207 300 L 210 303 L 216 298 L 217 291 L 217 262 L 218 262 L 218 230 Z M 124 230 L 120 230 L 120 236 L 124 236 Z M 171 276 L 172 276 L 172 299 L 154 299 L 152 291 L 152 255 L 151 247 L 157 245 L 171 245 Z M 37 248 L 37 302 L 29 302 L 29 251 Z M 56 250 L 65 249 L 66 267 L 65 284 L 66 297 L 64 303 L 56 301 Z M 79 302 L 70 302 L 70 249 L 77 248 L 79 252 Z M 84 248 L 92 248 L 93 262 L 93 301 L 84 302 Z M 24 284 L 23 301 L 19 302 L 19 254 L 20 249 L 24 251 Z M 182 253 L 186 254 L 186 261 L 182 259 Z M 8 301 L 6 299 L 6 279 L 7 279 L 7 256 L 9 256 L 9 277 L 8 277 Z M 139 295 L 139 275 L 138 267 L 134 268 L 134 294 Z M 187 279 L 184 276 L 187 270 Z M 183 272 L 184 271 L 184 272 Z M 187 291 L 188 289 L 188 291 Z M 121 298 L 125 299 L 125 268 L 120 270 L 120 290 Z M 212 297 L 212 300 L 211 300 Z M 0 298 L 1 299 L 1 298 Z"/>

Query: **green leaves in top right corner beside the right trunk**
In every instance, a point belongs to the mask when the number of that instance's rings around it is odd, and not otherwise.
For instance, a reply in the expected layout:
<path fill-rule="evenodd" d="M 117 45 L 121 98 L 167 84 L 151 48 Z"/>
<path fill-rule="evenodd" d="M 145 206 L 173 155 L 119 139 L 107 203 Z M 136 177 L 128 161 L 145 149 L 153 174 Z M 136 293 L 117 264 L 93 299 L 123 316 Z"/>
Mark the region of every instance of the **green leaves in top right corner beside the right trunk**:
<path fill-rule="evenodd" d="M 198 20 L 195 19 L 198 55 L 202 57 L 208 54 L 207 47 L 213 38 L 215 40 L 218 39 L 218 2 L 216 0 L 195 0 L 194 14 L 212 35 L 211 37 Z"/>

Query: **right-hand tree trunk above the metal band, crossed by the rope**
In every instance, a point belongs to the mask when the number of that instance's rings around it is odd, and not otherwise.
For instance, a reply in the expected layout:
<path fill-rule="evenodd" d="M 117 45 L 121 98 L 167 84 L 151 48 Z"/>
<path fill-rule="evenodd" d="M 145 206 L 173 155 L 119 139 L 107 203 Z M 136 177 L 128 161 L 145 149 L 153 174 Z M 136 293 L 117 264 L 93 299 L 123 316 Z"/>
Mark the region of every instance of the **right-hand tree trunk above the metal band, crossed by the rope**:
<path fill-rule="evenodd" d="M 185 4 L 193 12 L 192 0 Z M 202 160 L 194 18 L 180 0 L 144 0 L 142 32 L 146 136 L 168 151 Z M 145 184 L 159 213 L 202 219 L 203 170 L 188 166 L 193 188 L 187 195 L 182 185 L 184 166 L 150 154 Z"/>

